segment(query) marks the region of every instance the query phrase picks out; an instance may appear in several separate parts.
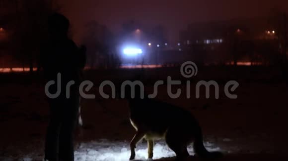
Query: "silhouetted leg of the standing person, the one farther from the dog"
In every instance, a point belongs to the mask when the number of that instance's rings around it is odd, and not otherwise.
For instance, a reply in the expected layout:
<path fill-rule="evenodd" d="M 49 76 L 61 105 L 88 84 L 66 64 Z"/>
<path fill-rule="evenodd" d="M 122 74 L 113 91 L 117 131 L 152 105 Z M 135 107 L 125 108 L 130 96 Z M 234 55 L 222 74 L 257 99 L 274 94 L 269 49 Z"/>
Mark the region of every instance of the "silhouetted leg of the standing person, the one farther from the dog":
<path fill-rule="evenodd" d="M 49 100 L 50 122 L 45 140 L 45 160 L 58 161 L 59 132 L 61 125 L 60 101 Z"/>

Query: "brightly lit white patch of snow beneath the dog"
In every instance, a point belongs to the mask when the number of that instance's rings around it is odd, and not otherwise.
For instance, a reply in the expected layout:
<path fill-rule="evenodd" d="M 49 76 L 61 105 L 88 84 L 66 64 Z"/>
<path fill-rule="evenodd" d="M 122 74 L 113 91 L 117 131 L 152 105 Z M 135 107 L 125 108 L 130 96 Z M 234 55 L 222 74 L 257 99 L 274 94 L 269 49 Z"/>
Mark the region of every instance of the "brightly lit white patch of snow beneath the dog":
<path fill-rule="evenodd" d="M 219 148 L 211 148 L 211 143 L 205 143 L 209 151 L 216 151 Z M 109 142 L 102 140 L 100 142 L 82 143 L 75 152 L 75 161 L 128 161 L 130 158 L 129 143 L 127 142 Z M 192 146 L 188 147 L 190 155 L 194 155 Z M 153 159 L 175 157 L 175 153 L 170 150 L 164 142 L 156 143 L 153 149 Z M 136 148 L 136 159 L 147 159 L 146 143 L 139 143 Z"/>

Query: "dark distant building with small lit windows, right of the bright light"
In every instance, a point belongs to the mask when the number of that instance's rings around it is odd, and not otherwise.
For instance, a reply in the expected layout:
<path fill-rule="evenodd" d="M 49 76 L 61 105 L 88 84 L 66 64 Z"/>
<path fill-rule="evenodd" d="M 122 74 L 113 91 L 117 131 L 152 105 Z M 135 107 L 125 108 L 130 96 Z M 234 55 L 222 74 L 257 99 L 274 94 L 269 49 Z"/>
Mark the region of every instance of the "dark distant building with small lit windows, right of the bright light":
<path fill-rule="evenodd" d="M 269 41 L 275 48 L 279 46 L 277 28 L 269 22 L 259 18 L 192 23 L 180 32 L 179 38 L 182 50 L 199 63 L 251 61 L 255 48 L 263 41 Z"/>

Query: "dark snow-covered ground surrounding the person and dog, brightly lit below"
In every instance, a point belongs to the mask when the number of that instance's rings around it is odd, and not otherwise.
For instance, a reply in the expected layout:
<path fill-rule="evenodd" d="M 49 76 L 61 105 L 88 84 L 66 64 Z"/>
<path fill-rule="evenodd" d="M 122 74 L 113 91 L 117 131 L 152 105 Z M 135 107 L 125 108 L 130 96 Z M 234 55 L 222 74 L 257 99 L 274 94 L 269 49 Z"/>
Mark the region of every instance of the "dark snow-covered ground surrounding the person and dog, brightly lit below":
<path fill-rule="evenodd" d="M 287 161 L 288 157 L 284 155 L 288 143 L 287 85 L 271 71 L 245 69 L 235 75 L 235 71 L 221 69 L 220 74 L 213 75 L 215 70 L 199 71 L 199 79 L 216 79 L 220 89 L 223 82 L 238 80 L 238 99 L 227 99 L 223 91 L 220 91 L 219 99 L 170 99 L 165 94 L 165 86 L 159 89 L 157 99 L 191 111 L 203 128 L 205 146 L 210 151 L 220 150 L 225 154 L 220 161 Z M 122 79 L 131 77 L 127 73 L 104 73 L 103 77 L 91 80 L 97 84 L 120 76 Z M 150 81 L 166 77 L 166 73 L 159 73 L 146 71 L 150 78 L 146 80 L 148 91 L 152 87 Z M 0 82 L 0 161 L 41 161 L 49 121 L 41 80 L 26 75 L 3 75 Z M 180 88 L 185 89 L 184 86 Z M 93 88 L 93 91 L 97 90 Z M 77 130 L 75 160 L 128 161 L 129 142 L 135 133 L 128 113 L 126 100 L 103 100 L 99 94 L 95 100 L 84 100 L 84 125 Z M 140 143 L 137 159 L 147 158 L 146 148 L 145 142 Z M 193 155 L 191 147 L 189 152 Z M 170 161 L 173 156 L 165 143 L 155 144 L 155 160 Z M 200 159 L 192 157 L 192 160 Z"/>

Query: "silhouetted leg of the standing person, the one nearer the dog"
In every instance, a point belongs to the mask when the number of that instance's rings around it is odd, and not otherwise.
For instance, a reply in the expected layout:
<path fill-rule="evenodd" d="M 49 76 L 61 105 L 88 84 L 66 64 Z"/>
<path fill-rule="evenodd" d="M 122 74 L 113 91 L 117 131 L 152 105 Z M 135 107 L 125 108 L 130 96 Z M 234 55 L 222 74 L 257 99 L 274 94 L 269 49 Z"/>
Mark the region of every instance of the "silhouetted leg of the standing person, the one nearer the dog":
<path fill-rule="evenodd" d="M 73 135 L 77 121 L 79 97 L 72 96 L 66 101 L 64 117 L 60 129 L 59 160 L 74 161 Z"/>

